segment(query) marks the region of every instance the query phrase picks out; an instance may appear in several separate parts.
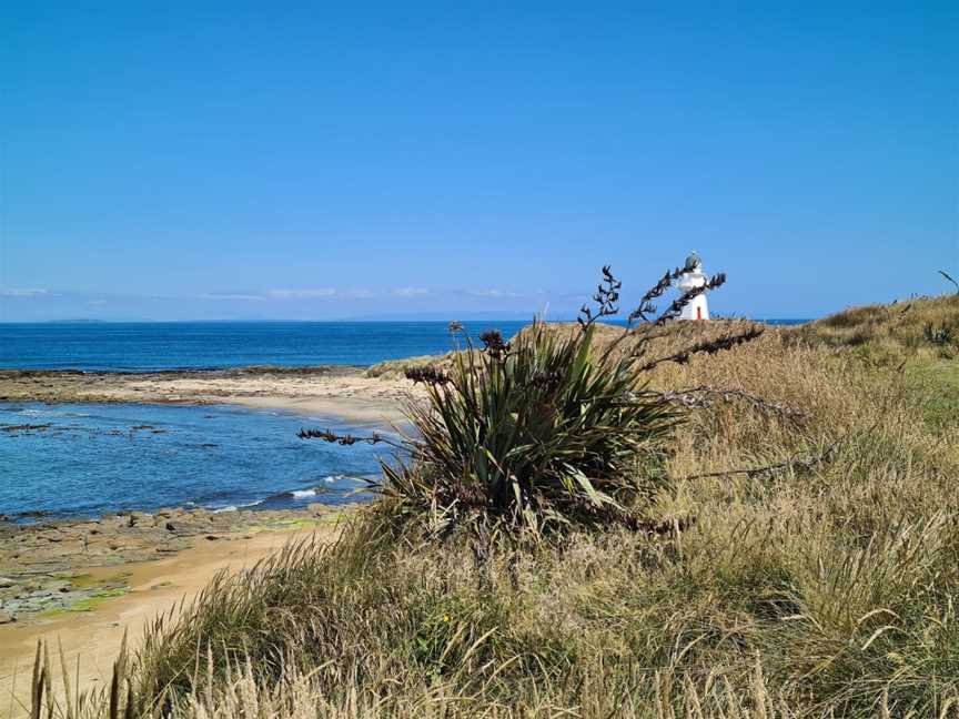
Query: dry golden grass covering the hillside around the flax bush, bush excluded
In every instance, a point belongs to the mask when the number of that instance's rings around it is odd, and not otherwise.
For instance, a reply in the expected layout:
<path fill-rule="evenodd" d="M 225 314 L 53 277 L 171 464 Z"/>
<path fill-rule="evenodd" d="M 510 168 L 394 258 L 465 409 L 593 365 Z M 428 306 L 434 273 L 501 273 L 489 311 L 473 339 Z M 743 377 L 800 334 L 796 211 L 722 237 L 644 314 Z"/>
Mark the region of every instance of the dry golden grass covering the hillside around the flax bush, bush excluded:
<path fill-rule="evenodd" d="M 864 307 L 656 364 L 682 422 L 632 469 L 642 521 L 436 533 L 382 500 L 158 622 L 118 711 L 959 716 L 957 369 L 923 331 L 957 321 L 955 297 Z"/>

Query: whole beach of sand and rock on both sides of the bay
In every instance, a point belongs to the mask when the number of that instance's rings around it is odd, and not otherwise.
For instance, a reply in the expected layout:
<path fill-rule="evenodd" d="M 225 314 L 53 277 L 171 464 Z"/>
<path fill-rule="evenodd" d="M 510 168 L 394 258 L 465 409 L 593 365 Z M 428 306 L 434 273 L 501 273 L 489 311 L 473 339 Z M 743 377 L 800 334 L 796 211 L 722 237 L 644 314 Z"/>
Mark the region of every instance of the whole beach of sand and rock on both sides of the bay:
<path fill-rule="evenodd" d="M 367 377 L 353 367 L 0 371 L 0 402 L 238 404 L 369 426 L 402 423 L 402 405 L 412 397 L 408 381 Z M 135 647 L 148 621 L 195 596 L 216 571 L 249 568 L 310 533 L 332 538 L 341 513 L 311 505 L 289 512 L 124 513 L 29 527 L 0 521 L 0 717 L 26 713 L 38 640 L 51 648 L 62 644 L 70 667 L 82 657 L 82 687 L 109 685 L 124 630 Z"/>

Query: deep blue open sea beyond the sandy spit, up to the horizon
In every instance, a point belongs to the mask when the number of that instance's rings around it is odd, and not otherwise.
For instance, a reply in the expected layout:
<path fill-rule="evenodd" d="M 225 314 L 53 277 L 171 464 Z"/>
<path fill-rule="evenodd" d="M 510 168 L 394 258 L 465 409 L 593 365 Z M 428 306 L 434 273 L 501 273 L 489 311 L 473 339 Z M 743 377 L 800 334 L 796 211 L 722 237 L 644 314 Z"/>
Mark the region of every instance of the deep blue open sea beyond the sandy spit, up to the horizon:
<path fill-rule="evenodd" d="M 529 321 L 466 320 L 461 324 L 476 340 L 486 330 L 512 336 Z M 624 326 L 625 322 L 608 324 Z M 448 322 L 438 320 L 0 323 L 0 369 L 154 373 L 264 365 L 369 367 L 445 354 L 456 340 Z"/>

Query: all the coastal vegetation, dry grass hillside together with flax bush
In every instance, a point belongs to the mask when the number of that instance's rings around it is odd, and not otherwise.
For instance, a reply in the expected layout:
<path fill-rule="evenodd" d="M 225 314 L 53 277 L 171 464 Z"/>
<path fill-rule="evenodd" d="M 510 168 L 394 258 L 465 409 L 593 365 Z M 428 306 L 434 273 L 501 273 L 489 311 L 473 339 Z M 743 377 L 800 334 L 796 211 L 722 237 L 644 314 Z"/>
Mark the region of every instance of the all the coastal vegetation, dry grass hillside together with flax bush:
<path fill-rule="evenodd" d="M 673 323 L 669 276 L 628 331 L 607 272 L 579 325 L 402 367 L 427 403 L 335 543 L 100 692 L 38 648 L 34 716 L 959 716 L 959 297 Z"/>

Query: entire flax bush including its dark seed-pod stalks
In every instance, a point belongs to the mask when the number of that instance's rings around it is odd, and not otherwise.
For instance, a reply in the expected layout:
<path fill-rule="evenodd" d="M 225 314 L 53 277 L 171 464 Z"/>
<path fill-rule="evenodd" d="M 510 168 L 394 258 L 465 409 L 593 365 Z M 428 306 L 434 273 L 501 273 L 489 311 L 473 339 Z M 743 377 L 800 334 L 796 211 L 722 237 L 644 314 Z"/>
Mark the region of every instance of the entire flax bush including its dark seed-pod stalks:
<path fill-rule="evenodd" d="M 426 385 L 427 402 L 407 406 L 415 431 L 405 440 L 410 459 L 383 467 L 382 490 L 398 515 L 428 515 L 441 526 L 491 519 L 535 534 L 597 521 L 637 526 L 639 500 L 662 483 L 660 459 L 680 418 L 676 397 L 648 391 L 645 373 L 759 334 L 699 342 L 647 361 L 644 347 L 655 328 L 725 282 L 716 275 L 654 318 L 653 300 L 686 270 L 667 272 L 602 350 L 597 322 L 618 313 L 622 286 L 608 266 L 595 306 L 581 308 L 572 331 L 535 321 L 508 343 L 486 332 L 477 350 L 462 325 L 451 324 L 455 351 L 444 365 L 405 369 L 407 378 Z M 300 436 L 340 440 L 321 431 Z"/>

